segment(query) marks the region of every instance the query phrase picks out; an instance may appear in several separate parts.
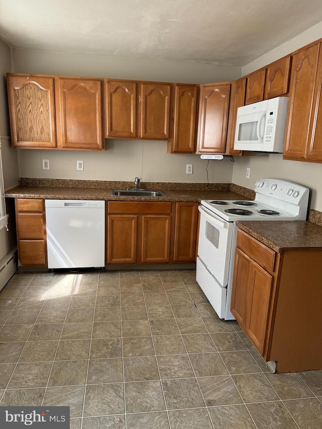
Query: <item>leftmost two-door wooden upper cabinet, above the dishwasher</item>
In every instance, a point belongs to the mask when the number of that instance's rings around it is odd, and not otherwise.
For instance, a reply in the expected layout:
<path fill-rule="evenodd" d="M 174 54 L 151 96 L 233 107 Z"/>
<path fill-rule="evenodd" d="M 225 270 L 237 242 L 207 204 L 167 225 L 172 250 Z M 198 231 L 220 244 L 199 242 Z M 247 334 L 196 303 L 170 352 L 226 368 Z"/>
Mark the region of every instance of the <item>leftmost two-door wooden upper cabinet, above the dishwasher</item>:
<path fill-rule="evenodd" d="M 102 80 L 7 73 L 13 147 L 104 148 Z"/>

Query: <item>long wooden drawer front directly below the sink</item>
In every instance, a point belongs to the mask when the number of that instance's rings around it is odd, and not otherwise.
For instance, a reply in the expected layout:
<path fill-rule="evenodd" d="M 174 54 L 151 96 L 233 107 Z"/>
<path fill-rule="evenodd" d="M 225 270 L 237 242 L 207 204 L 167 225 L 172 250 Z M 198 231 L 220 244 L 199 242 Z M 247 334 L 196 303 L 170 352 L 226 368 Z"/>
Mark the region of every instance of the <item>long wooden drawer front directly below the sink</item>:
<path fill-rule="evenodd" d="M 172 203 L 151 201 L 109 201 L 108 213 L 171 213 Z"/>

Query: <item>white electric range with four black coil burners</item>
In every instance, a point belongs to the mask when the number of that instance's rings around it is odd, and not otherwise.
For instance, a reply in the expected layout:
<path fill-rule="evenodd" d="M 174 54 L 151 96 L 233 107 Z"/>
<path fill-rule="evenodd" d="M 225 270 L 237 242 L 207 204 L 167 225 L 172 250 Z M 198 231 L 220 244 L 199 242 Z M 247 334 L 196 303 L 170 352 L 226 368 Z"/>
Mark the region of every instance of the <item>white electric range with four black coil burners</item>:
<path fill-rule="evenodd" d="M 306 220 L 309 189 L 278 179 L 255 185 L 254 201 L 202 200 L 196 280 L 221 319 L 231 320 L 236 221 Z"/>

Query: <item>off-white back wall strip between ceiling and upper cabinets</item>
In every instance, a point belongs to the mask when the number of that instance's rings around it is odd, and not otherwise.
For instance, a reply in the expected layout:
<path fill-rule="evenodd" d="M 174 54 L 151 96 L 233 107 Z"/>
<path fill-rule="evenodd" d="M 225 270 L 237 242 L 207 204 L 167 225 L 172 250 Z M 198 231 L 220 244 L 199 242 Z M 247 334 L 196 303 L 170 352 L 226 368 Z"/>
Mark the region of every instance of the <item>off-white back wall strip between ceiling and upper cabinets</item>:
<path fill-rule="evenodd" d="M 240 77 L 241 67 L 12 49 L 15 73 L 210 83 Z"/>

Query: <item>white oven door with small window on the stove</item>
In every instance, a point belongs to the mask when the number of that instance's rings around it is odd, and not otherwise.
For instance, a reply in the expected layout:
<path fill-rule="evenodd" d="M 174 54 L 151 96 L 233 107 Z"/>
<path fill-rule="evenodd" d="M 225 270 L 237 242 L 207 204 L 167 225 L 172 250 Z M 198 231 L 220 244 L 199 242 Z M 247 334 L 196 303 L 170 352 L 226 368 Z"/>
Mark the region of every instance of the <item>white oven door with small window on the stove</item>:
<path fill-rule="evenodd" d="M 228 283 L 233 222 L 227 222 L 199 206 L 198 256 L 221 287 Z"/>

